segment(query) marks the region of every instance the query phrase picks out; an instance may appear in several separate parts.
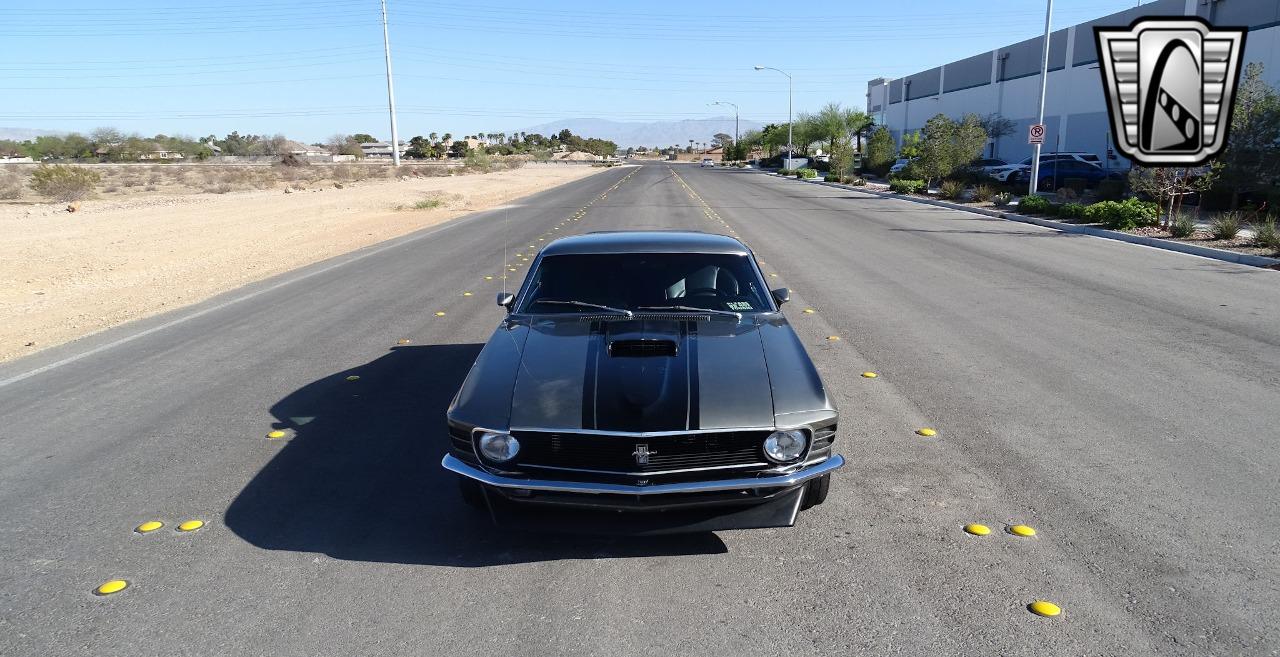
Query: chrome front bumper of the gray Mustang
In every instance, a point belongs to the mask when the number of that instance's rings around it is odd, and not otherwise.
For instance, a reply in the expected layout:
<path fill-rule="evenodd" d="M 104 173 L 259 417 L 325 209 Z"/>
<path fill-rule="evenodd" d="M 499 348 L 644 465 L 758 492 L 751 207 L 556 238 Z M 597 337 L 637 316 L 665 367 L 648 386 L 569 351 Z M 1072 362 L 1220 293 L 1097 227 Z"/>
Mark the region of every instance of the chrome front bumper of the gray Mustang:
<path fill-rule="evenodd" d="M 445 455 L 444 460 L 440 461 L 440 465 L 444 466 L 445 470 L 475 479 L 481 484 L 498 488 L 522 488 L 525 491 L 547 491 L 557 493 L 658 496 L 669 493 L 713 493 L 717 491 L 741 491 L 748 488 L 790 488 L 838 470 L 845 465 L 845 457 L 838 453 L 832 455 L 831 458 L 827 458 L 820 464 L 785 475 L 750 476 L 742 479 L 713 479 L 709 482 L 685 482 L 678 484 L 654 485 L 596 484 L 586 482 L 557 482 L 553 479 L 518 479 L 512 476 L 500 476 L 454 458 L 453 455 Z"/>

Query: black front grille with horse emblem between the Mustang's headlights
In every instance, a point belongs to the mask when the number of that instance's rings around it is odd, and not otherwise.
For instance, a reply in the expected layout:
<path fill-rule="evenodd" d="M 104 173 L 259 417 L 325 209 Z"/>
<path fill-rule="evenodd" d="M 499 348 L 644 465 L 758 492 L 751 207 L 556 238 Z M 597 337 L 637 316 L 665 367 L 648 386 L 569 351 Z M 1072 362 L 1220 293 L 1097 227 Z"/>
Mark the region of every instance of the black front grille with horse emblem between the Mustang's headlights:
<path fill-rule="evenodd" d="M 677 435 L 598 435 L 512 432 L 522 467 L 563 467 L 616 474 L 768 465 L 760 444 L 769 432 L 717 432 Z M 640 446 L 644 446 L 641 450 Z M 639 455 L 639 456 L 637 456 Z M 648 460 L 646 464 L 639 461 Z"/>

